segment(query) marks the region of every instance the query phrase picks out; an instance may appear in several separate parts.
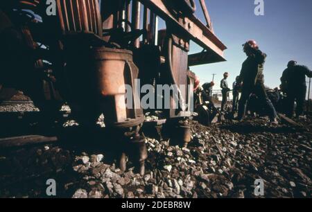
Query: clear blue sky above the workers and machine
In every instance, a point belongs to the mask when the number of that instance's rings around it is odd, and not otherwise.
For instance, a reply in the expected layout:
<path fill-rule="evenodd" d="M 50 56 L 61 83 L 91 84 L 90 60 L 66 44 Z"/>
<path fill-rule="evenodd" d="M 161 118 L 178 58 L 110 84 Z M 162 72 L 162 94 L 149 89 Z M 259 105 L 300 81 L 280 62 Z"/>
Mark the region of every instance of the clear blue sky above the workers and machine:
<path fill-rule="evenodd" d="M 205 23 L 200 4 L 196 16 Z M 192 67 L 202 83 L 210 82 L 216 73 L 217 85 L 225 71 L 230 73 L 229 84 L 241 71 L 245 60 L 242 46 L 247 39 L 257 40 L 268 58 L 264 71 L 265 84 L 277 87 L 279 78 L 289 60 L 297 60 L 312 69 L 312 1 L 264 0 L 263 16 L 254 15 L 254 0 L 206 0 L 214 31 L 227 46 L 227 62 Z M 191 45 L 191 52 L 202 51 Z M 306 80 L 309 80 L 306 78 Z"/>

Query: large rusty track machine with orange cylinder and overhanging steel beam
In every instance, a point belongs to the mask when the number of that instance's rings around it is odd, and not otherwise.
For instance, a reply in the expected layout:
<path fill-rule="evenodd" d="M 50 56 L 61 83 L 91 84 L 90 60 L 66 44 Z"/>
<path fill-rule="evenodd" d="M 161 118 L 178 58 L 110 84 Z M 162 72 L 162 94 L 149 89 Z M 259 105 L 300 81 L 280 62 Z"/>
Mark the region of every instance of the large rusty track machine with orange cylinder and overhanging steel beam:
<path fill-rule="evenodd" d="M 142 85 L 192 85 L 195 76 L 188 67 L 225 61 L 226 47 L 214 35 L 205 1 L 200 6 L 207 24 L 195 17 L 193 0 L 55 2 L 56 15 L 47 15 L 46 1 L 1 1 L 0 84 L 25 91 L 40 109 L 49 108 L 48 114 L 66 101 L 85 125 L 94 125 L 103 113 L 106 127 L 119 140 L 128 138 L 121 169 L 130 150 L 144 173 L 144 112 L 135 92 L 133 107 L 125 106 L 124 87 L 135 88 L 138 78 Z M 158 29 L 159 18 L 165 29 Z M 205 51 L 189 55 L 191 40 Z M 168 131 L 187 143 L 191 132 L 184 120 L 192 114 L 193 91 L 185 89 L 179 95 L 187 109 L 175 107 L 171 96 L 171 109 L 164 111 Z"/>

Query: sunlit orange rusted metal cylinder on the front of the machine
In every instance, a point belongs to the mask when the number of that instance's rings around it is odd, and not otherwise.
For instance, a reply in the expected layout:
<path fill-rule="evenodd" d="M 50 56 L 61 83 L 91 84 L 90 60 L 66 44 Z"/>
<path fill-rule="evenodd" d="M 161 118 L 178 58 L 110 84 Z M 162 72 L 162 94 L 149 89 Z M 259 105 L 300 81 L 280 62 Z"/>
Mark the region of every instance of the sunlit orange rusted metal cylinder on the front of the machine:
<path fill-rule="evenodd" d="M 139 70 L 132 61 L 132 52 L 113 48 L 94 48 L 93 67 L 97 80 L 105 123 L 114 127 L 133 127 L 143 123 L 144 115 L 139 96 L 135 92 L 135 79 Z M 126 94 L 126 86 L 132 88 Z M 132 103 L 126 104 L 129 98 Z"/>

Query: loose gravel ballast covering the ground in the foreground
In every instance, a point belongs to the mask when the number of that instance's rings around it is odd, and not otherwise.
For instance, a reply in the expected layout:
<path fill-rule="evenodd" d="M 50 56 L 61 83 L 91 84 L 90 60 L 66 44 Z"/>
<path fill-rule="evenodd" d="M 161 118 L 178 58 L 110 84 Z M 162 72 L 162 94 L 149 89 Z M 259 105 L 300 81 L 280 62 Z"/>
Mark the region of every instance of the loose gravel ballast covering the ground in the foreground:
<path fill-rule="evenodd" d="M 264 180 L 264 197 L 312 197 L 311 120 L 296 120 L 301 128 L 263 118 L 210 127 L 191 121 L 188 148 L 147 138 L 144 177 L 131 161 L 121 173 L 100 146 L 0 150 L 0 197 L 47 197 L 47 179 L 57 182 L 57 197 L 255 197 L 255 179 Z"/>

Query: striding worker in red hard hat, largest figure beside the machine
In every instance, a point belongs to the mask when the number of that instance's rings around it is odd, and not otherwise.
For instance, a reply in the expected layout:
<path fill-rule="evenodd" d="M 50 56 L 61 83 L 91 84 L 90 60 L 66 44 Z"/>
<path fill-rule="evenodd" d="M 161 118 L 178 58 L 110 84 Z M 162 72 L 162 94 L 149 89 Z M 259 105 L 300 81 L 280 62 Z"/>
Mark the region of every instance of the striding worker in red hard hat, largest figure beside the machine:
<path fill-rule="evenodd" d="M 270 116 L 270 122 L 277 124 L 277 113 L 266 94 L 263 81 L 263 67 L 266 54 L 259 50 L 259 46 L 254 40 L 245 42 L 243 44 L 243 51 L 248 58 L 243 62 L 238 79 L 239 85 L 241 85 L 241 82 L 243 82 L 243 85 L 241 98 L 239 99 L 239 114 L 237 119 L 239 121 L 243 120 L 250 94 L 255 94 L 259 98 L 260 103 L 266 108 Z"/>

